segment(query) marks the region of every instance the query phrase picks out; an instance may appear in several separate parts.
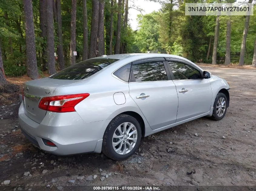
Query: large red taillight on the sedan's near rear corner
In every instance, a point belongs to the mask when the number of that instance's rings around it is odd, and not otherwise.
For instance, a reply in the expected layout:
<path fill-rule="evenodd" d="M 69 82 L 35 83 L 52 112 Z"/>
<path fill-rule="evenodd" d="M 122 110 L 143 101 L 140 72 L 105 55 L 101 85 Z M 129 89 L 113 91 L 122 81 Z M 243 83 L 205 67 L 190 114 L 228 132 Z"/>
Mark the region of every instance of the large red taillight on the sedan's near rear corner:
<path fill-rule="evenodd" d="M 71 94 L 52 97 L 43 97 L 38 107 L 42 110 L 53 112 L 72 112 L 75 106 L 90 94 Z"/>

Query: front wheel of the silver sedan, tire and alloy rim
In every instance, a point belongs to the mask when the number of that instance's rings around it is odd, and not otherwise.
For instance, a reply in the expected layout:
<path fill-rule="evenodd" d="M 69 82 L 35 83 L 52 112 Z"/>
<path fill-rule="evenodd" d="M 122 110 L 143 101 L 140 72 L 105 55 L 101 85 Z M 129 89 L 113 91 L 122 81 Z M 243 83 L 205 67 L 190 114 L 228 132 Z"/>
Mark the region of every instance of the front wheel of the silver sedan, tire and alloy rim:
<path fill-rule="evenodd" d="M 221 120 L 226 112 L 227 112 L 227 97 L 223 93 L 218 93 L 214 105 L 213 105 L 213 112 L 212 112 L 212 119 Z"/>

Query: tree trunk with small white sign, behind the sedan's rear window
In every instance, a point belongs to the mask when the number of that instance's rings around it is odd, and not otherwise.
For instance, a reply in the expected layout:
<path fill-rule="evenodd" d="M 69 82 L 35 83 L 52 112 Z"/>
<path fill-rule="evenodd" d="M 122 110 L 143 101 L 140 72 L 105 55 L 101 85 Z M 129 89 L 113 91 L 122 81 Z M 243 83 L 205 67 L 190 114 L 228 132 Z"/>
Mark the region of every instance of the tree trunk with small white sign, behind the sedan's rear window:
<path fill-rule="evenodd" d="M 72 10 L 71 10 L 71 27 L 70 27 L 70 65 L 75 64 L 75 20 L 76 20 L 76 0 L 71 1 L 72 4 Z"/>

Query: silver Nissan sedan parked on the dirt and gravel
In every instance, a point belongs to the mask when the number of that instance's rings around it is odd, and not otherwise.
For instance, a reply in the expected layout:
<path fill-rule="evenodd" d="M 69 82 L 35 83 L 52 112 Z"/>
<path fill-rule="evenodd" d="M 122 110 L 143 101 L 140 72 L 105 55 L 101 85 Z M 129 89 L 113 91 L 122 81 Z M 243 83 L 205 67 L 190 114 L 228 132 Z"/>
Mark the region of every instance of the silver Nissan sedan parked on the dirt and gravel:
<path fill-rule="evenodd" d="M 226 80 L 168 54 L 103 55 L 24 84 L 23 134 L 57 155 L 105 153 L 120 161 L 141 137 L 203 116 L 220 120 Z"/>

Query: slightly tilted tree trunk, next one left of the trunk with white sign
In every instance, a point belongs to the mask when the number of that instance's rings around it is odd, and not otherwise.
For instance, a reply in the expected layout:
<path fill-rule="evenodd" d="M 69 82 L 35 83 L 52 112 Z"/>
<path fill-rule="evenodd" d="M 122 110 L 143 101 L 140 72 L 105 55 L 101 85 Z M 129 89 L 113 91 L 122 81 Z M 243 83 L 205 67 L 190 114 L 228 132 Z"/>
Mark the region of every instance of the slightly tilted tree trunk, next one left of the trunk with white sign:
<path fill-rule="evenodd" d="M 65 61 L 63 56 L 63 40 L 62 40 L 62 16 L 61 16 L 61 0 L 56 0 L 56 14 L 57 14 L 57 23 L 58 23 L 58 45 L 57 45 L 57 56 L 60 70 L 65 68 Z"/>

